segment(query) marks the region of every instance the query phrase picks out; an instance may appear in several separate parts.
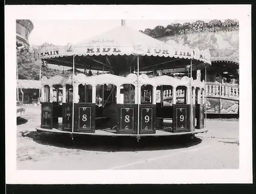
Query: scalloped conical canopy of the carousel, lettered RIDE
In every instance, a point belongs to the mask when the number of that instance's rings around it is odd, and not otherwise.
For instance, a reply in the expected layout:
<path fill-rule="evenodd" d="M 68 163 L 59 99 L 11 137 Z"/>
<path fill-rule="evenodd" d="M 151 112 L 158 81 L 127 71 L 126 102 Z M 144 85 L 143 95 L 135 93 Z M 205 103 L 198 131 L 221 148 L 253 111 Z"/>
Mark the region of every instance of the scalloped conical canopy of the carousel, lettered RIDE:
<path fill-rule="evenodd" d="M 73 61 L 73 56 L 74 61 Z M 120 26 L 94 38 L 67 46 L 38 50 L 38 58 L 48 63 L 104 71 L 134 71 L 139 55 L 140 69 L 180 68 L 190 64 L 210 64 L 208 51 L 173 46 L 126 26 Z"/>

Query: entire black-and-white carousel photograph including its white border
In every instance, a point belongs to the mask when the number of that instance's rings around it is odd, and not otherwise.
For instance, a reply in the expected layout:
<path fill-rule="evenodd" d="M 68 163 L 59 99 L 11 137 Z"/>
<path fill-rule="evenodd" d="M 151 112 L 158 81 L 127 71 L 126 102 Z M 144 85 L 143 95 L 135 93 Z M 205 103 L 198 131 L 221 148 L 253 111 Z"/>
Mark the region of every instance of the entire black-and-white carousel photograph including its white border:
<path fill-rule="evenodd" d="M 251 7 L 208 6 L 7 6 L 7 180 L 251 183 Z"/>

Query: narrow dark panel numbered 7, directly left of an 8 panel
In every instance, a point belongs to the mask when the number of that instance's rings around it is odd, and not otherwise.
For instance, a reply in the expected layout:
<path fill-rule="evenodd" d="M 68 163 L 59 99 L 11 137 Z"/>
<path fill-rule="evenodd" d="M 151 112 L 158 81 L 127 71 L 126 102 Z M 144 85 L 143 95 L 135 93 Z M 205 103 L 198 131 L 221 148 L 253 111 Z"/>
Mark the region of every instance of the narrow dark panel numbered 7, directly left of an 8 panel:
<path fill-rule="evenodd" d="M 73 119 L 73 104 L 62 104 L 62 129 L 64 131 L 72 131 L 72 119 Z"/>

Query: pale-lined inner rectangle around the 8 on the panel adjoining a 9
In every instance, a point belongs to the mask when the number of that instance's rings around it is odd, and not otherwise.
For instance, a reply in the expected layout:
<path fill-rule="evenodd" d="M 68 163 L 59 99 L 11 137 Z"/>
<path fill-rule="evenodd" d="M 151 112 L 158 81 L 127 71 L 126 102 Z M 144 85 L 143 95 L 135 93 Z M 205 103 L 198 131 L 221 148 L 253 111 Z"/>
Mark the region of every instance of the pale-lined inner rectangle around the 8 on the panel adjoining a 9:
<path fill-rule="evenodd" d="M 121 130 L 134 130 L 134 107 L 121 107 Z"/>

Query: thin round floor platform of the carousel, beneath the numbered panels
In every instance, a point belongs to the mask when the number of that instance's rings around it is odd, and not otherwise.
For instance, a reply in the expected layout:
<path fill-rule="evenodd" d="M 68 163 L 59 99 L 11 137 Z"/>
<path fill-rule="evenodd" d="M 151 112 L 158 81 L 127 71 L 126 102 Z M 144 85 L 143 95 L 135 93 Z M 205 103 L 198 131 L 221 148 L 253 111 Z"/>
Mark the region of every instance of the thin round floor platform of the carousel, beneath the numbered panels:
<path fill-rule="evenodd" d="M 62 134 L 71 134 L 71 132 L 62 131 L 57 128 L 52 128 L 51 130 L 47 128 L 36 127 L 36 130 L 39 132 L 50 132 L 50 133 L 62 133 Z M 155 134 L 139 134 L 139 136 L 179 136 L 179 135 L 189 135 L 189 134 L 198 134 L 198 133 L 206 133 L 208 130 L 203 128 L 201 130 L 195 130 L 194 132 L 170 132 L 165 130 L 156 130 Z M 74 132 L 73 134 L 77 135 L 90 135 L 90 136 L 137 136 L 137 134 L 119 134 L 116 130 L 110 129 L 99 129 L 95 130 L 95 133 L 80 133 Z"/>

